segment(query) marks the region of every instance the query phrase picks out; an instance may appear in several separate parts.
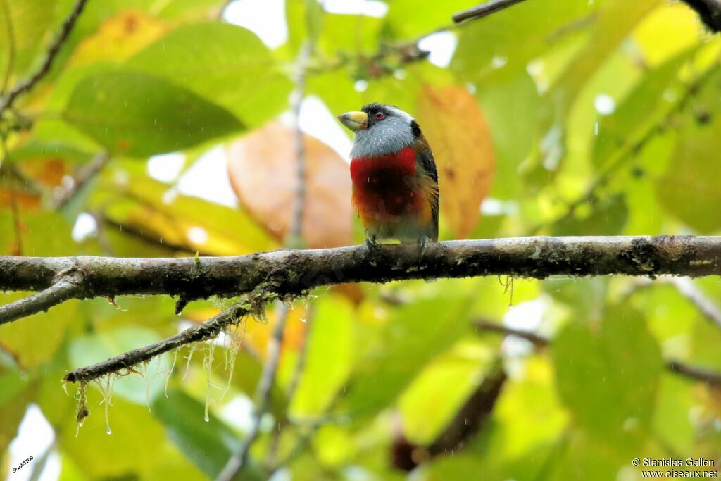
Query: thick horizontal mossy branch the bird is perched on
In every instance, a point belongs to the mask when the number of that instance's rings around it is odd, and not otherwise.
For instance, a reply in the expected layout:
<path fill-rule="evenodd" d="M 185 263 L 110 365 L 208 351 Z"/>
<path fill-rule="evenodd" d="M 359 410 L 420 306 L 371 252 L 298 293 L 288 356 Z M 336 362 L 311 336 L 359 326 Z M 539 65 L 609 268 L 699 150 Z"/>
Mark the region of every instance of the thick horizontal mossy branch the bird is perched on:
<path fill-rule="evenodd" d="M 0 291 L 40 291 L 73 271 L 72 297 L 164 294 L 185 299 L 232 297 L 264 286 L 300 294 L 317 286 L 482 275 L 721 274 L 721 237 L 516 237 L 430 244 L 275 250 L 239 257 L 0 257 Z M 46 306 L 45 306 L 46 308 Z M 40 308 L 43 309 L 43 308 Z M 37 309 L 37 310 L 40 310 Z M 35 312 L 37 312 L 37 310 Z M 17 317 L 4 317 L 4 322 Z"/>

